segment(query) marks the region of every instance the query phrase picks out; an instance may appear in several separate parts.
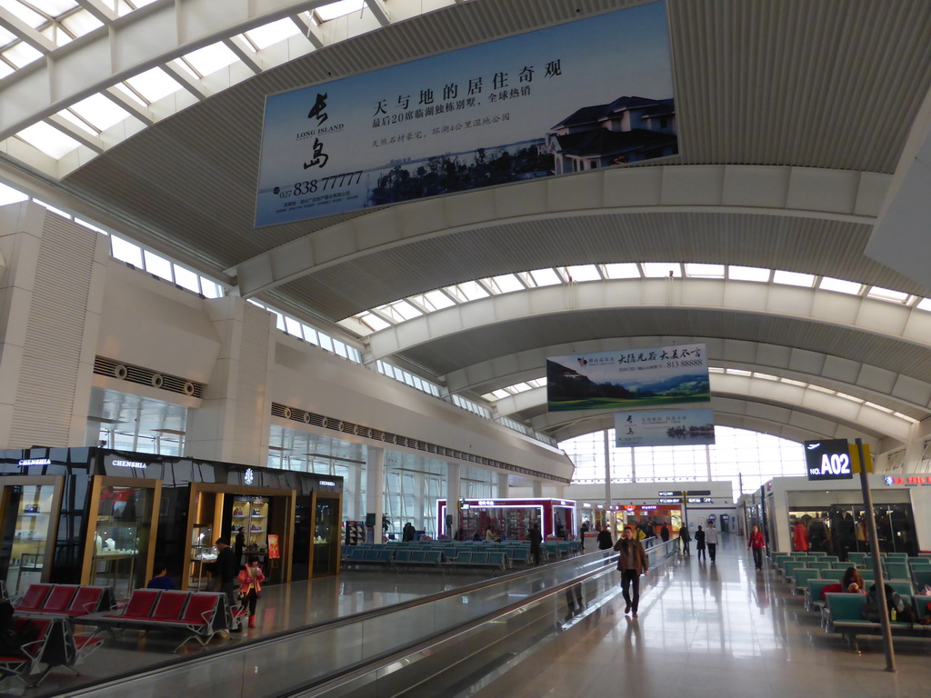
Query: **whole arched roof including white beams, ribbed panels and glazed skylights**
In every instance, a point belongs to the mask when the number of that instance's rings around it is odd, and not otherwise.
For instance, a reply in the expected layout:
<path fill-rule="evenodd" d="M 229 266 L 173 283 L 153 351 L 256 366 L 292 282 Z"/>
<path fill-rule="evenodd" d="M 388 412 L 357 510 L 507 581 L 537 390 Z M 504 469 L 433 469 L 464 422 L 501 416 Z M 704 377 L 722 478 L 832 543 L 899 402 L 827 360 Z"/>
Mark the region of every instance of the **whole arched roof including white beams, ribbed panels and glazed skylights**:
<path fill-rule="evenodd" d="M 924 0 L 667 0 L 679 154 L 253 226 L 266 95 L 639 4 L 2 0 L 0 179 L 454 391 L 538 380 L 547 355 L 707 342 L 722 423 L 918 435 Z M 484 296 L 458 297 L 470 284 Z M 548 415 L 539 391 L 498 409 L 557 438 L 606 424 Z"/>

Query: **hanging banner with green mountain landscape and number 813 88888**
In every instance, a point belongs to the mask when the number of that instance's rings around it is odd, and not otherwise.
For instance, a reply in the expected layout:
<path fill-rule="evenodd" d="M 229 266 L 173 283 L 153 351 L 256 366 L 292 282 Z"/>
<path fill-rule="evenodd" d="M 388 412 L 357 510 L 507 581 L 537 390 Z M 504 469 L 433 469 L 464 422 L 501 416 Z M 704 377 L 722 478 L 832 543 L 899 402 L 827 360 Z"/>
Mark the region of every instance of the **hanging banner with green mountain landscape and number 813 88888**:
<path fill-rule="evenodd" d="M 549 411 L 642 409 L 708 402 L 704 344 L 546 358 Z"/>

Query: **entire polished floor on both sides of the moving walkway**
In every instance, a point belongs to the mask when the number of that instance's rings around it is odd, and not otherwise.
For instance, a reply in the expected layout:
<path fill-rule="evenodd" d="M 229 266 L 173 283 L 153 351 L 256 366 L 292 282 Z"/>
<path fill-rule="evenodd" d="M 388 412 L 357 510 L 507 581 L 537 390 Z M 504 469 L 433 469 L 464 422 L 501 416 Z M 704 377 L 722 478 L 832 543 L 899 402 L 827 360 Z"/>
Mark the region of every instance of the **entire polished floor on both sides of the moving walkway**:
<path fill-rule="evenodd" d="M 266 587 L 258 627 L 207 650 L 193 643 L 182 655 L 236 647 L 291 627 L 385 606 L 479 581 L 477 575 L 350 571 L 313 582 Z M 596 604 L 591 604 L 594 607 Z M 54 670 L 27 696 L 68 695 L 98 678 L 174 660 L 175 640 L 128 631 L 79 667 L 77 677 Z M 624 614 L 615 596 L 581 621 L 498 668 L 461 695 L 652 697 L 714 696 L 889 696 L 928 695 L 931 637 L 897 639 L 897 673 L 886 672 L 880 638 L 860 642 L 862 654 L 829 636 L 818 616 L 804 610 L 802 597 L 768 567 L 753 570 L 743 539 L 723 536 L 718 560 L 675 557 L 644 579 L 640 617 Z M 438 684 L 439 685 L 439 684 Z M 20 694 L 5 681 L 5 689 Z M 237 694 L 227 687 L 224 694 Z M 452 696 L 450 696 L 452 698 Z"/>

